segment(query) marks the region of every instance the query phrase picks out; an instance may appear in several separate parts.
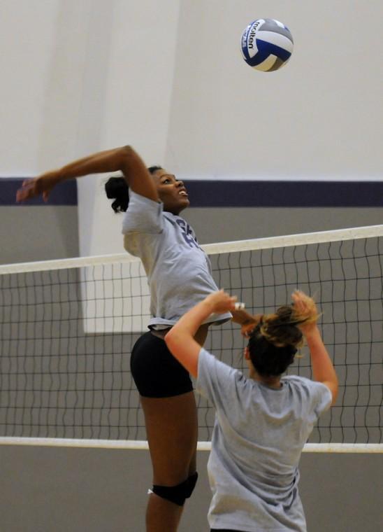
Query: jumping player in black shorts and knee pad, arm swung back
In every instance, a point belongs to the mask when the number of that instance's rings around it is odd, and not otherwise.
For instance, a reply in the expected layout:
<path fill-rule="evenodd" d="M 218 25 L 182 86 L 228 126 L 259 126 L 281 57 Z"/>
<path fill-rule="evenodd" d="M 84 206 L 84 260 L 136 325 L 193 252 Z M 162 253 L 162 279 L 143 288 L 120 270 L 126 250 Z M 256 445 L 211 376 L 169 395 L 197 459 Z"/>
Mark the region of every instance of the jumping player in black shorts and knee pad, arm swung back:
<path fill-rule="evenodd" d="M 179 216 L 189 206 L 184 183 L 161 167 L 147 169 L 133 148 L 123 146 L 24 181 L 17 201 L 40 194 L 47 200 L 61 181 L 116 171 L 122 176 L 109 179 L 106 193 L 115 200 L 115 211 L 127 211 L 122 221 L 124 246 L 142 260 L 151 296 L 150 331 L 131 353 L 153 468 L 146 526 L 147 532 L 175 532 L 198 476 L 198 424 L 192 381 L 171 356 L 164 335 L 182 314 L 217 290 L 208 257 Z M 226 311 L 207 316 L 195 331 L 197 344 L 203 345 L 211 323 L 229 318 Z"/>

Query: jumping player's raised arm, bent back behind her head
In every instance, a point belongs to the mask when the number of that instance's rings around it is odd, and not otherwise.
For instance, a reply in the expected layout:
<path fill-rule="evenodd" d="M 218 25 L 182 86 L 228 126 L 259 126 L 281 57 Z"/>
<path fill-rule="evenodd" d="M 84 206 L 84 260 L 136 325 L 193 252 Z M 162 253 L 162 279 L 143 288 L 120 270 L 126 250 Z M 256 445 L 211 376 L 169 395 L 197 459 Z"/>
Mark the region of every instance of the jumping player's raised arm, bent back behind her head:
<path fill-rule="evenodd" d="M 22 188 L 17 190 L 16 201 L 24 202 L 38 195 L 43 195 L 44 201 L 47 201 L 52 188 L 62 181 L 89 174 L 117 171 L 122 172 L 128 186 L 134 192 L 150 200 L 159 201 L 157 188 L 150 173 L 140 155 L 131 146 L 94 153 L 62 168 L 45 172 L 34 179 L 27 179 L 22 183 Z"/>

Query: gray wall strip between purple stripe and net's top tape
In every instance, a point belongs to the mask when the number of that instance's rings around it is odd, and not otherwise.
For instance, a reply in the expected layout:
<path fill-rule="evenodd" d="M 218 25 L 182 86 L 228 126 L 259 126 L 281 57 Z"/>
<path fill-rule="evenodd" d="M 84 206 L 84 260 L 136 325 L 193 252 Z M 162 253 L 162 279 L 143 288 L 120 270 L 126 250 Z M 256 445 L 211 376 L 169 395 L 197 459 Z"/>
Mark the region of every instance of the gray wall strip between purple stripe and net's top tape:
<path fill-rule="evenodd" d="M 380 207 L 190 208 L 184 213 L 201 244 L 379 225 Z M 116 216 L 121 221 L 121 216 Z M 0 207 L 0 264 L 77 257 L 78 208 Z M 119 232 L 118 228 L 116 231 Z M 108 226 L 106 234 L 113 232 Z M 120 253 L 122 253 L 122 242 Z"/>

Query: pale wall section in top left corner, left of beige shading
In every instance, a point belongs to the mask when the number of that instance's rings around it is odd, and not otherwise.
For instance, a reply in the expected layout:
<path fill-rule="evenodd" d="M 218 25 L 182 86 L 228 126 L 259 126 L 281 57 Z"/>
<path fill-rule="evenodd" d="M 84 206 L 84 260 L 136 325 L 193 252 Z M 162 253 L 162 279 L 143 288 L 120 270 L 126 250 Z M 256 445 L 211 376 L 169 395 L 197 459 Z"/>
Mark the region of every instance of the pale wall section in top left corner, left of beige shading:
<path fill-rule="evenodd" d="M 0 3 L 0 174 L 37 171 L 59 0 Z"/>

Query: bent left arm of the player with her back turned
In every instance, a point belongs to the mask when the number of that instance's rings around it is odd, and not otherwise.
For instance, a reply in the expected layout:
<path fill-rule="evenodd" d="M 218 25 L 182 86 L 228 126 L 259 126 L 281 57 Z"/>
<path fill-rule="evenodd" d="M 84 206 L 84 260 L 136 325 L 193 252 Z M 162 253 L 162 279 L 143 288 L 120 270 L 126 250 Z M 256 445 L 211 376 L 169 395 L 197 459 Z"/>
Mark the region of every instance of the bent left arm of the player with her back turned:
<path fill-rule="evenodd" d="M 193 377 L 198 377 L 198 358 L 201 351 L 201 345 L 194 339 L 198 328 L 214 312 L 233 311 L 236 299 L 224 290 L 208 295 L 184 314 L 165 336 L 169 351 Z"/>

